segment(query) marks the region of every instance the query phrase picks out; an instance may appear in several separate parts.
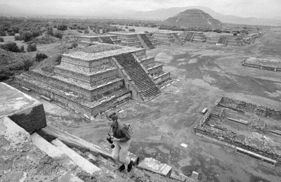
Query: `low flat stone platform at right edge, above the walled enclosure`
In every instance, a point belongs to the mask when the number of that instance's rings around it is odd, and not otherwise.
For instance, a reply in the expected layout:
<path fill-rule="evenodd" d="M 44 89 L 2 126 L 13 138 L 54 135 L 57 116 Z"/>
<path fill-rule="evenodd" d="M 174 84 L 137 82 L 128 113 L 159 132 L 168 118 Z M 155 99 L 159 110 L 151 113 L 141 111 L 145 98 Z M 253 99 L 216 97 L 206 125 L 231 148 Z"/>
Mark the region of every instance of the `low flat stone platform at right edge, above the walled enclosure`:
<path fill-rule="evenodd" d="M 260 70 L 281 72 L 281 61 L 266 58 L 247 58 L 242 62 L 243 66 L 255 67 Z"/>

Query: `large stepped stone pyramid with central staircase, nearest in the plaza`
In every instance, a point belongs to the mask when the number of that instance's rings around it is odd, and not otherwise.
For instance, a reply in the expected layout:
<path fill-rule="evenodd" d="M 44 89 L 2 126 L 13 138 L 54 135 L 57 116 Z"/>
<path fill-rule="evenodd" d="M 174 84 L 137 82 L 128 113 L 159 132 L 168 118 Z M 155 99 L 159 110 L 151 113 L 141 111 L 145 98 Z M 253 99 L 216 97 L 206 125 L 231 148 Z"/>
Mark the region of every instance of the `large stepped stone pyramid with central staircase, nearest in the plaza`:
<path fill-rule="evenodd" d="M 16 80 L 42 98 L 93 119 L 131 98 L 147 102 L 161 94 L 159 89 L 171 78 L 154 59 L 144 48 L 96 42 L 63 54 L 53 72 L 31 70 Z"/>

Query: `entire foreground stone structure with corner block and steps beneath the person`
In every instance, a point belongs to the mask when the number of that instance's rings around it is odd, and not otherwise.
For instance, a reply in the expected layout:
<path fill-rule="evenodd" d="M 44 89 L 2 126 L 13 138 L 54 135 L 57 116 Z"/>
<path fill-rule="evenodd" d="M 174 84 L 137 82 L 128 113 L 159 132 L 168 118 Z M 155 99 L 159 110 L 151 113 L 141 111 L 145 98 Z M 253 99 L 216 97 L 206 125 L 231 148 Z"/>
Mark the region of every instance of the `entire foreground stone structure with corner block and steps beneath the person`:
<path fill-rule="evenodd" d="M 133 169 L 116 171 L 109 144 L 84 141 L 47 126 L 44 107 L 18 89 L 0 83 L 0 181 L 193 181 L 154 158 L 128 152 Z"/>

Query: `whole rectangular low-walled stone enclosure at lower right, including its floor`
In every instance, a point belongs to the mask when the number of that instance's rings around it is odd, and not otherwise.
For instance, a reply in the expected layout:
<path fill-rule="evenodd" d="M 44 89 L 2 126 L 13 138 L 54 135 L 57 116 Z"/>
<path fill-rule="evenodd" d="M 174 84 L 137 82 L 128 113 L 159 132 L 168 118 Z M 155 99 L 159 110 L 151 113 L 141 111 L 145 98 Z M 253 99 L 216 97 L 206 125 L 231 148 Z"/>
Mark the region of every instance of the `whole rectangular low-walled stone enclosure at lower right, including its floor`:
<path fill-rule="evenodd" d="M 281 162 L 281 110 L 222 97 L 193 131 L 269 164 Z"/>

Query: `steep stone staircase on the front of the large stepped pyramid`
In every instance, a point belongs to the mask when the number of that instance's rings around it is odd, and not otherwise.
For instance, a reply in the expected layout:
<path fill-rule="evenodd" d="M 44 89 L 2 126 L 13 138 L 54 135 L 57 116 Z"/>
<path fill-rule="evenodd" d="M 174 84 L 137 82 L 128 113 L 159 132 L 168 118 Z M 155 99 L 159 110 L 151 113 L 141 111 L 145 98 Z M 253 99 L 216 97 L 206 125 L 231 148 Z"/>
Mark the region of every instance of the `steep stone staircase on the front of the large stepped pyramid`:
<path fill-rule="evenodd" d="M 131 53 L 114 56 L 114 58 L 136 84 L 144 100 L 151 100 L 161 93 Z"/>

